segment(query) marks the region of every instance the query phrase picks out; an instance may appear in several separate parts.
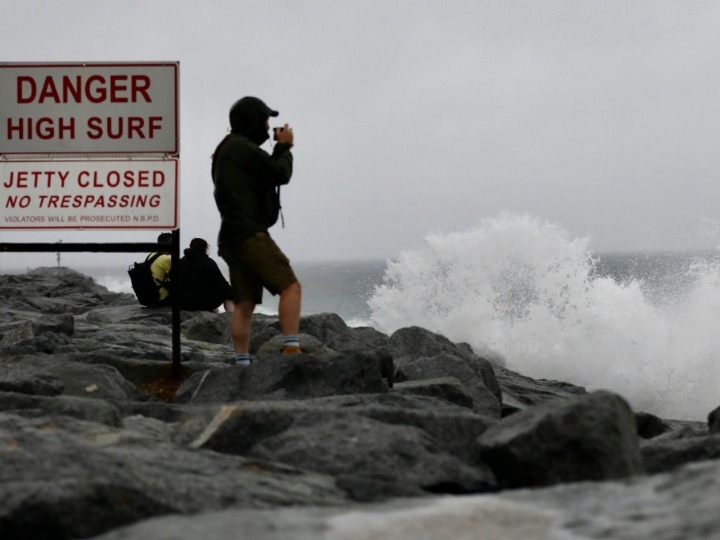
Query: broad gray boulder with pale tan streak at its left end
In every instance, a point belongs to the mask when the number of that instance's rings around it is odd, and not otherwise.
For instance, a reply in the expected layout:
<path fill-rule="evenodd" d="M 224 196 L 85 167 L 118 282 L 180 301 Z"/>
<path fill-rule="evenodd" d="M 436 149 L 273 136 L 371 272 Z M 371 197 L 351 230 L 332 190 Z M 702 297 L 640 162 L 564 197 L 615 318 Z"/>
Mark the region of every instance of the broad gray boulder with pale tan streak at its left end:
<path fill-rule="evenodd" d="M 372 400 L 371 400 L 372 401 Z M 193 448 L 293 464 L 335 477 L 358 500 L 494 489 L 492 473 L 465 451 L 491 425 L 457 408 L 308 402 L 226 405 L 183 429 Z M 176 440 L 189 440 L 178 434 Z M 464 441 L 464 449 L 458 448 Z"/>

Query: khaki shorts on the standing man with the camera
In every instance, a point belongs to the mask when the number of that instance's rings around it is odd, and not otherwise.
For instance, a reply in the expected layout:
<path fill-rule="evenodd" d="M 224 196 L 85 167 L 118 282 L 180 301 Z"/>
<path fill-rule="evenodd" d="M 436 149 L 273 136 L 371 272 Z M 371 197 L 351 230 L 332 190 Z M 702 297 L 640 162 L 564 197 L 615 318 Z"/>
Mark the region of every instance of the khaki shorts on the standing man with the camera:
<path fill-rule="evenodd" d="M 297 281 L 290 260 L 268 233 L 259 232 L 220 248 L 230 269 L 233 301 L 262 303 L 263 288 L 279 294 Z"/>

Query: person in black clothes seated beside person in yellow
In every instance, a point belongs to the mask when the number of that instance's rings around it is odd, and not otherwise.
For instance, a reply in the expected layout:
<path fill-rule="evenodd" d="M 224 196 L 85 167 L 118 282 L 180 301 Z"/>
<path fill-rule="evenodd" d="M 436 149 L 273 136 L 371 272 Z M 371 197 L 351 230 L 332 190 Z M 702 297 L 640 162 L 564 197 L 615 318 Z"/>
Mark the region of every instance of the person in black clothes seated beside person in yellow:
<path fill-rule="evenodd" d="M 188 311 L 233 310 L 232 289 L 215 261 L 208 256 L 208 243 L 193 238 L 180 259 L 180 307 Z"/>

